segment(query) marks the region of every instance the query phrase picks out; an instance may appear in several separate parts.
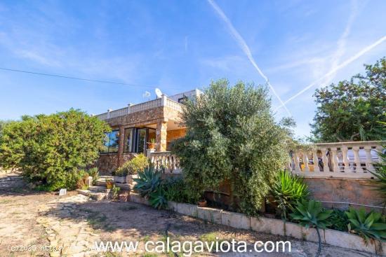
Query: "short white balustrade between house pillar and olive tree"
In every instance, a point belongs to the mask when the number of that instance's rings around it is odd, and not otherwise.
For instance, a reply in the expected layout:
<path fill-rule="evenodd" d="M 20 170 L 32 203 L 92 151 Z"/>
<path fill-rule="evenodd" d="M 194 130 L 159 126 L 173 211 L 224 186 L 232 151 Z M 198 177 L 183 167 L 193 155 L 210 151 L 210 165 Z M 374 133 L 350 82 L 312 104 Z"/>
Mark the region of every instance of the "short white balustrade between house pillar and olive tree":
<path fill-rule="evenodd" d="M 152 152 L 147 156 L 154 168 L 165 173 L 181 173 L 180 160 L 171 152 Z"/>

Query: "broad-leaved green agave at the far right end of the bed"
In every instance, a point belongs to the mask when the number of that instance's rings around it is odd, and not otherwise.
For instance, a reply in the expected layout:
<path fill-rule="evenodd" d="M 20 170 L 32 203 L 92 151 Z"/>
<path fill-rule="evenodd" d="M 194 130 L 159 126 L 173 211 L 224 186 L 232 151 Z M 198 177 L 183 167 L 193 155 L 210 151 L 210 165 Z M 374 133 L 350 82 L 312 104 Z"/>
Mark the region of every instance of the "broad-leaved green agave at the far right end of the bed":
<path fill-rule="evenodd" d="M 366 244 L 373 239 L 386 241 L 386 223 L 382 222 L 380 213 L 371 211 L 366 214 L 364 207 L 359 210 L 351 207 L 349 211 L 346 211 L 346 215 L 350 221 L 349 231 L 360 235 Z"/>

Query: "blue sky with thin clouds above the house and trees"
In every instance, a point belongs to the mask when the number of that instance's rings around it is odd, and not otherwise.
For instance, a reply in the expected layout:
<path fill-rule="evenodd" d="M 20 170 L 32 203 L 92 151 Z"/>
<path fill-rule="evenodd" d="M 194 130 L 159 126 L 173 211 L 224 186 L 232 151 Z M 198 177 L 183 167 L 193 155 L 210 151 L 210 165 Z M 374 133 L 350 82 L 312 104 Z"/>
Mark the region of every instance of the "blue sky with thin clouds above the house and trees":
<path fill-rule="evenodd" d="M 383 0 L 1 1 L 0 67 L 139 86 L 0 70 L 0 119 L 268 78 L 277 119 L 291 113 L 307 135 L 314 90 L 386 55 L 385 11 Z"/>

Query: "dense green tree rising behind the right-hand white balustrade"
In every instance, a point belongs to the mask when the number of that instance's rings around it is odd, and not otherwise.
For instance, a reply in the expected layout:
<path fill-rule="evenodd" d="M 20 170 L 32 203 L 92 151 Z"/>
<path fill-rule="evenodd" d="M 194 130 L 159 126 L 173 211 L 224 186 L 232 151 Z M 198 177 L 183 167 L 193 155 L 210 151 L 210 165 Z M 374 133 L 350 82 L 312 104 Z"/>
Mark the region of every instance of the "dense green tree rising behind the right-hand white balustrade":
<path fill-rule="evenodd" d="M 316 142 L 382 140 L 386 121 L 386 58 L 365 65 L 366 74 L 317 89 L 312 134 Z"/>

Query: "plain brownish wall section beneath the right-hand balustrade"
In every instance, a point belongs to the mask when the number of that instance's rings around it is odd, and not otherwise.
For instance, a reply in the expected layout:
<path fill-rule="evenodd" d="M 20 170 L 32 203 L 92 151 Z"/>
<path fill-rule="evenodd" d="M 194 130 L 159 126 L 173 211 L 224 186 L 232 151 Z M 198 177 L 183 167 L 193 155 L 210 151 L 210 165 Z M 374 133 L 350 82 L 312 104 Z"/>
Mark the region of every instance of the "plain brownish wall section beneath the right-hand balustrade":
<path fill-rule="evenodd" d="M 322 202 L 350 202 L 382 207 L 382 197 L 374 190 L 371 179 L 308 178 L 305 182 L 312 192 L 312 197 Z M 324 203 L 324 206 L 347 209 L 349 204 Z M 379 208 L 374 209 L 380 211 Z"/>

